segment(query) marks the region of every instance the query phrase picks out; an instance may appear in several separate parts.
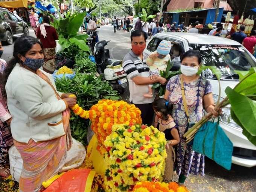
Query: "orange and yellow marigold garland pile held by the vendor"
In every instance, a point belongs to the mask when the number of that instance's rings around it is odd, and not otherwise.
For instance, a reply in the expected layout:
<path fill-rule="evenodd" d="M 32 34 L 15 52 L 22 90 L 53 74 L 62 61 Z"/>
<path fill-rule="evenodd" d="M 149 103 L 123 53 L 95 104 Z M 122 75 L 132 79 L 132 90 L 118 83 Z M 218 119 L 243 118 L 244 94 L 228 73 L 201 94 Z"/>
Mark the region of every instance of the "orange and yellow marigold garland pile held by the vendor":
<path fill-rule="evenodd" d="M 70 94 L 69 97 L 75 96 Z M 101 144 L 99 151 L 102 153 L 104 141 L 108 135 L 112 133 L 112 126 L 114 124 L 141 124 L 141 111 L 135 105 L 126 103 L 125 101 L 113 101 L 103 99 L 97 104 L 93 105 L 89 111 L 83 110 L 76 104 L 72 108 L 76 115 L 84 119 L 91 120 L 91 129 L 96 134 L 96 137 Z M 103 153 L 102 153 L 103 154 Z"/>

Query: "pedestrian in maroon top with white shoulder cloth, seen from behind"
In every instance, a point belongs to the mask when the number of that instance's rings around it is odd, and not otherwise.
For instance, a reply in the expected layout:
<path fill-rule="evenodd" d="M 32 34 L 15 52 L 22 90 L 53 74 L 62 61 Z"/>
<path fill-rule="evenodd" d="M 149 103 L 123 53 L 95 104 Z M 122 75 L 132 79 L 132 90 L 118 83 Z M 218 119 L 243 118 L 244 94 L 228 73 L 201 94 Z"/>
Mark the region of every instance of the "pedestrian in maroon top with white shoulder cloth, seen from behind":
<path fill-rule="evenodd" d="M 40 39 L 43 44 L 44 51 L 44 63 L 43 70 L 47 73 L 53 73 L 56 69 L 55 64 L 55 47 L 58 40 L 56 29 L 50 26 L 50 19 L 48 16 L 43 17 L 43 24 L 37 30 L 37 38 Z"/>

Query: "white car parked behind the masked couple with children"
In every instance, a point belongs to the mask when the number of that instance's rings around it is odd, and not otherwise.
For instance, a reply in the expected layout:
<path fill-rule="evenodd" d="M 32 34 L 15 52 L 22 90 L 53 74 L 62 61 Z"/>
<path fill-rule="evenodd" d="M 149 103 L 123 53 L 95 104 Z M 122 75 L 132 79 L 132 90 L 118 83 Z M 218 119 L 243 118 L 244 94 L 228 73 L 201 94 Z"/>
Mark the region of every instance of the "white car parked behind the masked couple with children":
<path fill-rule="evenodd" d="M 218 67 L 222 73 L 222 99 L 226 97 L 226 87 L 229 86 L 233 88 L 239 82 L 238 75 L 233 72 L 234 70 L 245 71 L 249 70 L 251 67 L 256 67 L 256 59 L 240 43 L 227 38 L 203 34 L 180 32 L 158 33 L 148 41 L 144 52 L 148 55 L 151 52 L 154 52 L 162 40 L 171 41 L 172 47 L 176 47 L 176 50 L 178 47 L 180 50 L 180 56 L 187 50 L 198 50 L 202 55 L 203 64 Z M 171 57 L 172 52 L 173 50 L 171 50 L 170 53 Z M 211 82 L 213 87 L 213 96 L 215 101 L 217 101 L 219 95 L 218 81 L 211 71 L 204 71 L 202 76 Z M 242 134 L 241 127 L 232 120 L 229 109 L 223 109 L 223 114 L 220 118 L 220 126 L 234 146 L 232 163 L 245 167 L 256 166 L 256 146 L 249 142 Z"/>

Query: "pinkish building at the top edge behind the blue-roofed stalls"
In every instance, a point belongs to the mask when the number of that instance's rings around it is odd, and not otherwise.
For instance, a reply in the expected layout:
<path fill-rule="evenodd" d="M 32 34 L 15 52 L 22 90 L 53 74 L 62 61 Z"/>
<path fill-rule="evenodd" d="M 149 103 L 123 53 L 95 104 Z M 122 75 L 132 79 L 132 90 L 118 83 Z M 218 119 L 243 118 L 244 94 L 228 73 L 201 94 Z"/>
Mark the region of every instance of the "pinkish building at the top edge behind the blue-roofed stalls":
<path fill-rule="evenodd" d="M 193 8 L 215 8 L 218 0 L 171 0 L 167 6 L 167 11 L 173 11 L 177 9 L 193 9 Z M 221 0 L 220 8 L 224 8 L 224 11 L 232 11 L 231 7 L 227 3 L 227 0 Z"/>

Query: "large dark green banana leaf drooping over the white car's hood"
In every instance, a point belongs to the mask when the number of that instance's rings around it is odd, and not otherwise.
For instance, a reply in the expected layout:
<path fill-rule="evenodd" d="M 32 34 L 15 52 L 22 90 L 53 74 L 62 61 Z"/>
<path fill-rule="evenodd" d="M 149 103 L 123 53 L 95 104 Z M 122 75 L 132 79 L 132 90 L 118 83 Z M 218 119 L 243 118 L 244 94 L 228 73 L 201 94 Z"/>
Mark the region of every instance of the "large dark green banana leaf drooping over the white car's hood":
<path fill-rule="evenodd" d="M 234 118 L 234 120 L 236 120 L 238 125 L 241 125 L 244 130 L 248 131 L 251 136 L 256 136 L 256 129 L 254 128 L 256 122 L 256 101 L 237 93 L 230 87 L 227 87 L 225 92 L 229 98 L 233 113 L 237 117 Z"/>

